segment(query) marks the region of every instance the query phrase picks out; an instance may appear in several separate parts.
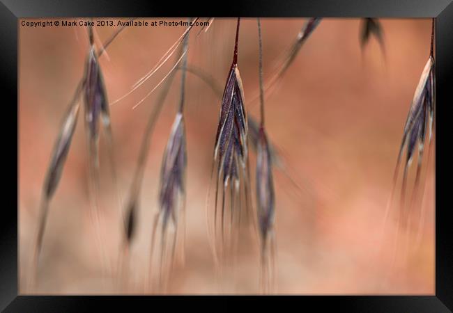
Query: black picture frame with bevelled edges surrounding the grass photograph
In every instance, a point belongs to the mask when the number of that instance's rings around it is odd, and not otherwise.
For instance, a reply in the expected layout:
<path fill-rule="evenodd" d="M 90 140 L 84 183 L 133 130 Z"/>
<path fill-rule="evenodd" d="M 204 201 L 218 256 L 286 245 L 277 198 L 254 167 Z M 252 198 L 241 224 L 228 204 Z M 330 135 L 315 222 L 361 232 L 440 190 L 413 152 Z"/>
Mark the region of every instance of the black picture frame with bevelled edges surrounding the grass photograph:
<path fill-rule="evenodd" d="M 453 310 L 453 242 L 450 226 L 451 193 L 449 161 L 451 131 L 447 129 L 449 106 L 453 106 L 453 3 L 452 0 L 312 0 L 275 1 L 254 0 L 217 3 L 174 3 L 173 1 L 70 1 L 70 0 L 2 0 L 0 4 L 0 72 L 3 94 L 3 116 L 0 123 L 3 134 L 3 206 L 1 208 L 0 241 L 0 309 L 4 312 L 83 312 L 93 306 L 103 312 L 112 309 L 130 310 L 130 301 L 138 307 L 153 310 L 178 298 L 181 304 L 191 303 L 198 297 L 148 296 L 18 296 L 18 232 L 17 206 L 19 194 L 8 191 L 14 188 L 18 177 L 13 164 L 18 160 L 17 141 L 9 136 L 13 126 L 18 131 L 17 102 L 17 19 L 24 17 L 436 17 L 436 293 L 432 296 L 293 296 L 283 297 L 288 305 L 303 310 L 344 309 L 347 312 L 452 312 Z M 449 88 L 450 87 L 450 88 Z M 6 97 L 5 97 L 6 96 Z M 10 142 L 9 142 L 10 141 Z M 14 149 L 13 147 L 16 147 Z M 15 153 L 17 152 L 17 153 Z M 6 169 L 6 170 L 4 170 Z M 438 170 L 439 169 L 439 170 Z M 16 185 L 17 188 L 18 184 Z M 450 192 L 449 192 L 450 191 Z M 252 297 L 259 305 L 282 297 Z M 162 303 L 165 301 L 167 303 Z M 204 304 L 215 303 L 214 308 L 234 310 L 233 299 L 210 296 Z M 299 303 L 301 302 L 301 303 Z M 225 303 L 225 307 L 220 307 Z M 136 303 L 135 303 L 136 304 Z M 99 306 L 100 305 L 100 306 Z M 302 306 L 303 305 L 303 306 Z M 313 306 L 314 305 L 314 306 Z M 228 310 L 228 309 L 227 309 Z"/>

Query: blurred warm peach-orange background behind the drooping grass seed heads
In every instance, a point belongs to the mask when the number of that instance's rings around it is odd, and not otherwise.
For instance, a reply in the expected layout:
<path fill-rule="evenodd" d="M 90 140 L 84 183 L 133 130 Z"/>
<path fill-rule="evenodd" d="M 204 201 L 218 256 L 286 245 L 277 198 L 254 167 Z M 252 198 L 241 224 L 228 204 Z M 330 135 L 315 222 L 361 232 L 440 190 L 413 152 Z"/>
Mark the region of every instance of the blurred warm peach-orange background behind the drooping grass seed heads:
<path fill-rule="evenodd" d="M 381 227 L 406 114 L 429 54 L 431 20 L 381 22 L 387 48 L 385 62 L 375 40 L 361 53 L 359 19 L 324 19 L 277 90 L 266 99 L 268 134 L 281 147 L 288 171 L 302 188 L 298 192 L 281 172 L 275 171 L 279 293 L 434 292 L 433 154 L 429 166 L 424 167 L 428 173 L 421 202 L 426 216 L 422 241 L 410 249 L 406 262 L 401 261 L 404 257 L 397 257 L 391 266 L 395 219 L 390 219 L 384 235 Z M 263 19 L 265 79 L 303 23 L 303 19 Z M 95 31 L 98 38 L 105 40 L 114 29 L 98 27 Z M 194 29 L 190 38 L 189 63 L 204 68 L 224 86 L 231 65 L 236 19 L 215 19 L 208 33 L 195 38 L 198 31 Z M 100 59 L 109 99 L 113 101 L 125 94 L 182 32 L 183 27 L 132 27 L 118 35 L 108 49 L 108 58 Z M 116 292 L 108 278 L 100 277 L 100 255 L 89 220 L 82 114 L 50 207 L 40 260 L 40 287 L 24 287 L 45 171 L 61 118 L 82 77 L 87 45 L 83 27 L 20 26 L 21 293 Z M 243 19 L 238 64 L 246 107 L 254 116 L 259 115 L 259 107 L 247 102 L 247 97 L 251 99 L 258 88 L 257 56 L 256 19 Z M 158 93 L 137 109 L 132 110 L 132 106 L 167 70 L 168 65 L 136 93 L 111 107 L 123 197 L 135 168 L 148 113 Z M 178 102 L 178 77 L 179 74 L 155 129 L 148 158 L 137 237 L 131 252 L 132 293 L 139 292 L 146 273 L 152 216 L 157 209 L 158 173 Z M 205 203 L 220 102 L 206 84 L 187 74 L 186 105 L 187 262 L 184 268 L 176 268 L 169 292 L 254 294 L 259 291 L 256 243 L 252 239 L 243 241 L 236 274 L 228 276 L 222 289 L 215 281 L 208 246 Z M 113 258 L 121 224 L 102 140 L 100 157 L 103 227 L 109 238 L 106 248 Z"/>

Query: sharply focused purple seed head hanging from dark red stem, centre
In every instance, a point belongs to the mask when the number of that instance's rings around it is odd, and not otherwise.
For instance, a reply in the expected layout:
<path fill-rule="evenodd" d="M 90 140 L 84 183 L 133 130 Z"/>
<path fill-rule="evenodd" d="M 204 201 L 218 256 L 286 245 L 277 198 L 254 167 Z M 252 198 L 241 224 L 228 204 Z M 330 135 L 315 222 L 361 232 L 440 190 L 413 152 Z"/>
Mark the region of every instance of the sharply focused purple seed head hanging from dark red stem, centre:
<path fill-rule="evenodd" d="M 227 76 L 224 93 L 220 108 L 219 124 L 217 126 L 217 134 L 215 136 L 214 147 L 214 163 L 217 165 L 217 179 L 215 190 L 215 207 L 214 207 L 214 238 L 215 241 L 222 239 L 222 245 L 216 247 L 216 254 L 219 252 L 217 248 L 224 249 L 224 225 L 225 211 L 227 209 L 225 203 L 229 198 L 230 202 L 230 222 L 229 229 L 234 230 L 233 223 L 238 216 L 239 223 L 242 209 L 242 200 L 240 197 L 241 188 L 245 195 L 245 211 L 251 208 L 249 201 L 249 170 L 248 170 L 248 125 L 247 113 L 245 112 L 245 100 L 243 83 L 240 79 L 238 70 L 238 38 L 239 38 L 240 19 L 236 26 L 236 42 L 233 51 L 233 62 Z M 223 175 L 223 177 L 222 177 Z M 222 187 L 219 182 L 222 181 Z M 220 204 L 221 214 L 217 215 L 217 200 L 219 195 L 222 195 Z M 222 228 L 222 236 L 217 237 L 217 216 L 220 216 L 220 226 Z M 218 257 L 218 255 L 217 255 Z M 217 259 L 216 257 L 216 259 Z"/>

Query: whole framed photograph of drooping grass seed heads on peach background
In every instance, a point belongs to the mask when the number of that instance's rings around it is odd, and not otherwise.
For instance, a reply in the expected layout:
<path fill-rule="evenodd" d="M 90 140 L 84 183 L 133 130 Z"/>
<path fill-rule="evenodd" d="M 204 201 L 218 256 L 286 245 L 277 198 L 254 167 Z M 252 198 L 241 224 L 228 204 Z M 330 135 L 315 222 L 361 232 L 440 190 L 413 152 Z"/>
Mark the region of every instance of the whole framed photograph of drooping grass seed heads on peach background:
<path fill-rule="evenodd" d="M 433 294 L 435 33 L 20 19 L 20 294 Z"/>

